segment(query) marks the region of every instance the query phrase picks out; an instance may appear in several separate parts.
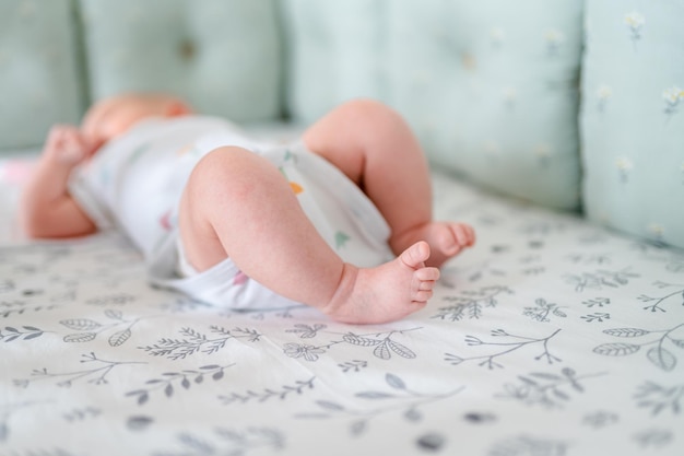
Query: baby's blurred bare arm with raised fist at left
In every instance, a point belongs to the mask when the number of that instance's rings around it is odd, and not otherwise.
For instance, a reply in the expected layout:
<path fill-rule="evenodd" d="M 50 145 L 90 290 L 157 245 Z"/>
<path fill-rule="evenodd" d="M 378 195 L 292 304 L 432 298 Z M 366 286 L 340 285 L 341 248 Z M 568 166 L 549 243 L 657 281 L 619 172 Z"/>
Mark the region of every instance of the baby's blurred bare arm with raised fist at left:
<path fill-rule="evenodd" d="M 20 220 L 27 236 L 75 237 L 97 231 L 68 191 L 71 171 L 90 154 L 78 128 L 52 127 L 21 199 Z"/>

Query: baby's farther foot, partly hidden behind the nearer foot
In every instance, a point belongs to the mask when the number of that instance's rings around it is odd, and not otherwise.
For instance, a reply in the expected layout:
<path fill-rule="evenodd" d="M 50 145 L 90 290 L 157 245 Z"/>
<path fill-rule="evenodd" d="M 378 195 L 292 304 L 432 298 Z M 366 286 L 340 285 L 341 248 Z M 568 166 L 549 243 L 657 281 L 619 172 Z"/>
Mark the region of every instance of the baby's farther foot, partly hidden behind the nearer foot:
<path fill-rule="evenodd" d="M 429 244 L 431 256 L 425 264 L 439 268 L 463 248 L 471 247 L 475 243 L 475 232 L 467 223 L 429 222 L 403 233 L 399 245 L 416 241 L 425 241 Z"/>

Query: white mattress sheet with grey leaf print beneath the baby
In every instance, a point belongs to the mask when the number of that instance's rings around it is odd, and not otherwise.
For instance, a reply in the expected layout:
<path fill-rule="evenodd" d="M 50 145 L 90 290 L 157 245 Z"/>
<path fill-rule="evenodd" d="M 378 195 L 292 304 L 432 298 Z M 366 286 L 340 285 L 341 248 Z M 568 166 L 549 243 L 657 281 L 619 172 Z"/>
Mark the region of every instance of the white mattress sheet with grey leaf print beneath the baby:
<path fill-rule="evenodd" d="M 234 312 L 151 288 L 116 233 L 22 239 L 30 166 L 0 166 L 0 455 L 684 452 L 682 252 L 435 172 L 477 244 L 426 308 Z"/>

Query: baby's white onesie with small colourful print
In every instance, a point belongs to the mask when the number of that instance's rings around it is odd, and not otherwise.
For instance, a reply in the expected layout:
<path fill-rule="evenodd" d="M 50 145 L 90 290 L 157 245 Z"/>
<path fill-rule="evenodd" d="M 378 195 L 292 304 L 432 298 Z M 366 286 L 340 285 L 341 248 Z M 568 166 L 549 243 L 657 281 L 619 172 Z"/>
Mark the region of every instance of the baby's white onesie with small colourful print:
<path fill-rule="evenodd" d="M 80 166 L 69 190 L 101 230 L 120 229 L 130 237 L 143 253 L 154 285 L 232 308 L 292 305 L 245 276 L 229 258 L 202 272 L 185 264 L 177 227 L 180 195 L 198 161 L 222 145 L 248 149 L 279 167 L 307 217 L 344 261 L 372 267 L 392 258 L 387 222 L 342 172 L 302 142 L 258 142 L 220 118 L 143 120 Z"/>

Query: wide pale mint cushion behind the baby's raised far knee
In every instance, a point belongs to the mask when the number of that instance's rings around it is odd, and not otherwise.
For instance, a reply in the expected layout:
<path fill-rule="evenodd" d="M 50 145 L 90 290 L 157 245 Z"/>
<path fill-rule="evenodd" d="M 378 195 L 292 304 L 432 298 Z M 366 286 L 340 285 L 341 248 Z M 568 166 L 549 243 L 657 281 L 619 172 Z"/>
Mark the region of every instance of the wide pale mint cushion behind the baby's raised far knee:
<path fill-rule="evenodd" d="M 579 206 L 577 0 L 287 0 L 288 106 L 314 121 L 370 96 L 433 165 L 549 207 Z"/>

